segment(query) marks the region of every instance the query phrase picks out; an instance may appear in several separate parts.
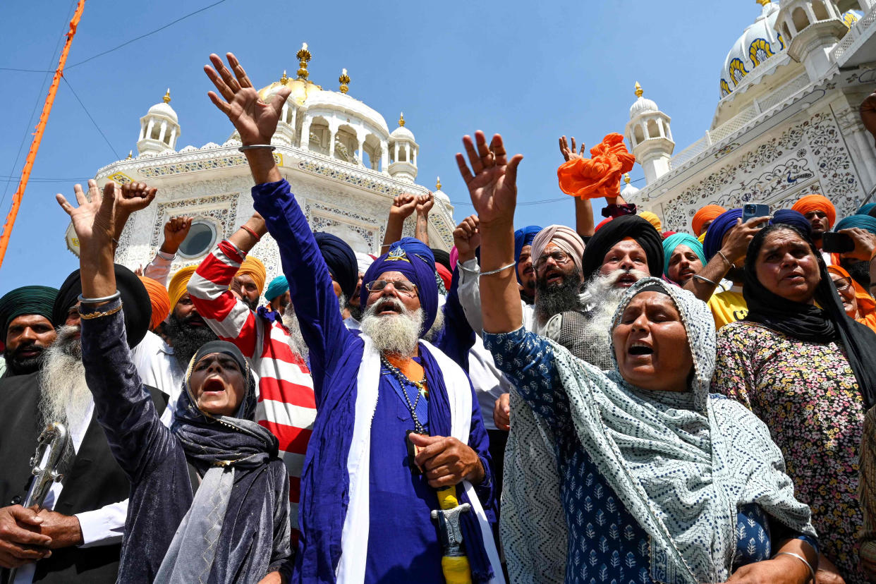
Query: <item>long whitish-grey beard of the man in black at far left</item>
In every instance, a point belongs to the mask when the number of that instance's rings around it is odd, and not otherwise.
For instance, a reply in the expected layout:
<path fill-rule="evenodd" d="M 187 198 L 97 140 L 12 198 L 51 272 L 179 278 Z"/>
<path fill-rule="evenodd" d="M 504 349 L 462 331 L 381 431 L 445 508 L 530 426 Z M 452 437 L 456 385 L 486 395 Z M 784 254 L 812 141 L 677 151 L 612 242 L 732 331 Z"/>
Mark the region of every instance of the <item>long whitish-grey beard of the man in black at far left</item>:
<path fill-rule="evenodd" d="M 85 380 L 78 326 L 58 329 L 58 338 L 46 349 L 39 372 L 39 414 L 49 422 L 81 427 L 93 403 Z"/>

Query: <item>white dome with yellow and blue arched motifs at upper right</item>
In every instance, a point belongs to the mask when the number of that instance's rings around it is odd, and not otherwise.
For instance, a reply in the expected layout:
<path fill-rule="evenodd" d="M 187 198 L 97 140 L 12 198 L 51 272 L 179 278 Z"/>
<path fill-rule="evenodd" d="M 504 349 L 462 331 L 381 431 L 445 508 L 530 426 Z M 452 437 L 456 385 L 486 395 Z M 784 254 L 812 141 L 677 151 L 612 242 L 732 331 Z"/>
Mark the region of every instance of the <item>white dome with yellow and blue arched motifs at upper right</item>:
<path fill-rule="evenodd" d="M 754 24 L 733 43 L 721 69 L 721 97 L 730 95 L 755 67 L 785 50 L 785 39 L 774 29 L 778 16 L 779 5 L 767 1 Z"/>

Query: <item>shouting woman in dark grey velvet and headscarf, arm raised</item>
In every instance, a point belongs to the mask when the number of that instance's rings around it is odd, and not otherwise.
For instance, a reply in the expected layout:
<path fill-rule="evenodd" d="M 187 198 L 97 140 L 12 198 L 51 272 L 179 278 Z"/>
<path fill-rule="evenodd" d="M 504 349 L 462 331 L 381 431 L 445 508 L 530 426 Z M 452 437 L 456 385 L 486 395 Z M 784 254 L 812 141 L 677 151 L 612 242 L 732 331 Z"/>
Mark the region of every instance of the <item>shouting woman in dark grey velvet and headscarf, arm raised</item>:
<path fill-rule="evenodd" d="M 82 362 L 97 419 L 131 482 L 118 581 L 282 582 L 291 575 L 289 477 L 277 440 L 253 421 L 255 381 L 234 345 L 189 362 L 172 429 L 161 424 L 125 342 L 110 240 L 110 182 L 79 208 Z"/>

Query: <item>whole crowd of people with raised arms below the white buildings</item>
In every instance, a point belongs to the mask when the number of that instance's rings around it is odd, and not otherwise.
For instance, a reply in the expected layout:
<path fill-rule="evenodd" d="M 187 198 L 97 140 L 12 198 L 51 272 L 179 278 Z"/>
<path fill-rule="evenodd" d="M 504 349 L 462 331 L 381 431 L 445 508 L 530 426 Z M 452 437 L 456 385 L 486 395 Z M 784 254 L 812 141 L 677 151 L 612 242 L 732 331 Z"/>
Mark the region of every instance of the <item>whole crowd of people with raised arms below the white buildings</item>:
<path fill-rule="evenodd" d="M 89 181 L 58 195 L 80 268 L 0 298 L 4 582 L 876 581 L 876 205 L 662 231 L 620 196 L 621 137 L 562 137 L 575 228 L 515 230 L 523 157 L 477 131 L 453 249 L 404 194 L 357 253 L 275 164 L 289 89 L 210 61 L 251 218 L 172 274 L 173 217 L 131 271 L 156 189 Z M 25 507 L 50 424 L 60 476 Z"/>

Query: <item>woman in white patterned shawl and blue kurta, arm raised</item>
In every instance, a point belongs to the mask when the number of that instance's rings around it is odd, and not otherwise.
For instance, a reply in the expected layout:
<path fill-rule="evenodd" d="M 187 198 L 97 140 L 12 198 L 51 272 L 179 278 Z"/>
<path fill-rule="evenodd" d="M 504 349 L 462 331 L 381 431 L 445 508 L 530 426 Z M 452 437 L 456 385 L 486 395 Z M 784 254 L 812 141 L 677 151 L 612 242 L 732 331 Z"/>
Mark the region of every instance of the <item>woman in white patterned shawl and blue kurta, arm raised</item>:
<path fill-rule="evenodd" d="M 480 215 L 484 344 L 553 430 L 565 514 L 539 533 L 503 527 L 512 581 L 536 580 L 517 548 L 567 531 L 566 582 L 812 579 L 809 509 L 795 500 L 767 427 L 709 395 L 708 308 L 660 279 L 639 280 L 612 322 L 616 365 L 605 372 L 527 332 L 509 269 L 522 157 L 509 162 L 498 135 L 489 148 L 483 133 L 476 139 L 463 138 L 474 172 L 456 158 Z"/>

